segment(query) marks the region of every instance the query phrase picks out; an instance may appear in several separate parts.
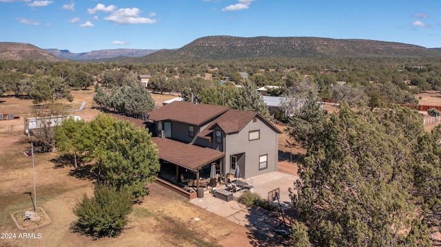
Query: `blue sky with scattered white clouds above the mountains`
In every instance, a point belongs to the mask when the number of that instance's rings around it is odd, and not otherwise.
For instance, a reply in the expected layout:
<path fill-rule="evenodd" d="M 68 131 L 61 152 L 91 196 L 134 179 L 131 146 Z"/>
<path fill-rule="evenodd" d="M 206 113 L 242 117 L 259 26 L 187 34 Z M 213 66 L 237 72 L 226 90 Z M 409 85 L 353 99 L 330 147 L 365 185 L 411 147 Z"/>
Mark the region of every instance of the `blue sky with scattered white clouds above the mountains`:
<path fill-rule="evenodd" d="M 212 35 L 441 47 L 441 0 L 0 0 L 0 41 L 43 49 L 173 49 Z"/>

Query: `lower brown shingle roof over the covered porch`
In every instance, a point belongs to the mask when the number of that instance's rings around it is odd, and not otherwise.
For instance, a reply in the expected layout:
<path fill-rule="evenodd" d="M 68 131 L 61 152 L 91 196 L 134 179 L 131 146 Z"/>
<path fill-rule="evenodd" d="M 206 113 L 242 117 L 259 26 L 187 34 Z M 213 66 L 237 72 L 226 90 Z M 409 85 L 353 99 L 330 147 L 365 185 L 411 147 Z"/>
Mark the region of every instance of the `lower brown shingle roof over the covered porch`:
<path fill-rule="evenodd" d="M 208 147 L 198 147 L 172 139 L 155 137 L 152 141 L 158 148 L 159 158 L 191 170 L 199 169 L 225 156 L 225 153 Z"/>

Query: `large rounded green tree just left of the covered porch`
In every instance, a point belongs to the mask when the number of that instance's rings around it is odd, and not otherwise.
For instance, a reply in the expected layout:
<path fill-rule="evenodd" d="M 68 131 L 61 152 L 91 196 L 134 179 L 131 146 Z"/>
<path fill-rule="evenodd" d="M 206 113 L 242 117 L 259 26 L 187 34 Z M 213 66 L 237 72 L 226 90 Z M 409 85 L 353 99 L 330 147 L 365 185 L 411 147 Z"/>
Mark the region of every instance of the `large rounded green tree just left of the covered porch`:
<path fill-rule="evenodd" d="M 100 114 L 90 122 L 94 143 L 92 167 L 100 183 L 127 189 L 133 197 L 148 193 L 146 182 L 153 182 L 159 171 L 158 150 L 147 129 Z"/>

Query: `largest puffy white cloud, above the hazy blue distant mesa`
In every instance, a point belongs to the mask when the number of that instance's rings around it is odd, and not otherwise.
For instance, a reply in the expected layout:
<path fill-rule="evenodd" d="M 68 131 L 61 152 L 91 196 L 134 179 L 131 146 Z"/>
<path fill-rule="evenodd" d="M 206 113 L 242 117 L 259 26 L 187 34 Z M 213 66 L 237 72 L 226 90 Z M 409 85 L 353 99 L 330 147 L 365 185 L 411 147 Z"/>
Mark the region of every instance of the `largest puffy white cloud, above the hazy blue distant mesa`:
<path fill-rule="evenodd" d="M 110 21 L 119 25 L 123 24 L 138 24 L 138 23 L 147 23 L 153 24 L 156 23 L 155 19 L 140 17 L 139 13 L 141 10 L 139 8 L 120 8 L 110 14 L 108 17 L 104 17 L 106 21 Z"/>

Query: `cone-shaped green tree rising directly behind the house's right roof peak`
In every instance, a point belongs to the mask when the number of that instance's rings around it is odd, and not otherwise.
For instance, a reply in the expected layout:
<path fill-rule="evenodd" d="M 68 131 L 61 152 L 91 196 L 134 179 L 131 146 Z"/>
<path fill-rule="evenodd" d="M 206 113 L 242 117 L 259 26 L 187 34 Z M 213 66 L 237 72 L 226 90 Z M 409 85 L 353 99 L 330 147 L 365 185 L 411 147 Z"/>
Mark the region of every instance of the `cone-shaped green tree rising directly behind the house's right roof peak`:
<path fill-rule="evenodd" d="M 238 89 L 238 94 L 232 98 L 230 106 L 241 111 L 256 111 L 258 114 L 271 120 L 269 109 L 263 96 L 257 91 L 256 85 L 252 82 L 244 82 Z"/>

